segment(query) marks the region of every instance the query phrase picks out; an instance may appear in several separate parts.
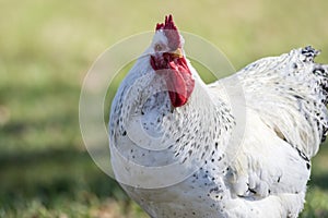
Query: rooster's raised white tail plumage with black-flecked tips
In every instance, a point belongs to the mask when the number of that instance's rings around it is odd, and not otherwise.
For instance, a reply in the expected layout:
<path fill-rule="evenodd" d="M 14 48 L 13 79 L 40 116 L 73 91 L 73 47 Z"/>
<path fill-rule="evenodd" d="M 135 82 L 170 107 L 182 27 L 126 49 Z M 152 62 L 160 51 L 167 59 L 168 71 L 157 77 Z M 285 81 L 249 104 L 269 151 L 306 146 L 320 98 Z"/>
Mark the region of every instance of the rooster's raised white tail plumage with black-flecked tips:
<path fill-rule="evenodd" d="M 247 105 L 307 157 L 328 135 L 328 65 L 311 46 L 260 59 L 241 72 Z"/>

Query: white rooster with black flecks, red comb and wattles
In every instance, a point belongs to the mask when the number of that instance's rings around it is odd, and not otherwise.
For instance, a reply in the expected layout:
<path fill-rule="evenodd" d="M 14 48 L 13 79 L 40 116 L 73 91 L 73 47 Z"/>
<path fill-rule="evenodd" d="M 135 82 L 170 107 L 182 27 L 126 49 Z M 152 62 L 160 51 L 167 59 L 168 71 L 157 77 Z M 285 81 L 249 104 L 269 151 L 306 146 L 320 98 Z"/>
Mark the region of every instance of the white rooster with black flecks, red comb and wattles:
<path fill-rule="evenodd" d="M 169 15 L 112 105 L 117 180 L 153 218 L 297 217 L 311 158 L 328 128 L 328 66 L 314 63 L 317 55 L 311 47 L 295 49 L 207 85 L 186 59 Z M 222 92 L 234 82 L 244 96 L 229 97 L 245 99 L 234 107 L 245 110 L 246 123 L 236 120 Z M 243 138 L 227 153 L 239 125 Z M 172 162 L 174 169 L 165 170 Z M 162 174 L 147 172 L 162 167 Z M 184 171 L 191 173 L 180 179 Z"/>

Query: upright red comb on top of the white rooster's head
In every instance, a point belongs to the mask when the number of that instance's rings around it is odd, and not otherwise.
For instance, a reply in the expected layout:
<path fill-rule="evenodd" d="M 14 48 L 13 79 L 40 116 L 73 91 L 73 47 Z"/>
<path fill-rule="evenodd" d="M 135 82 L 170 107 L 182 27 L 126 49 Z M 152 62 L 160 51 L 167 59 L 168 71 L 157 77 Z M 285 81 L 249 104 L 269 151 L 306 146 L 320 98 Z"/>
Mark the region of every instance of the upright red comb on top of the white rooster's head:
<path fill-rule="evenodd" d="M 159 23 L 156 25 L 156 31 L 163 29 L 164 34 L 168 40 L 168 47 L 176 50 L 180 46 L 180 36 L 177 27 L 173 22 L 173 16 L 169 14 L 165 16 L 165 23 Z"/>

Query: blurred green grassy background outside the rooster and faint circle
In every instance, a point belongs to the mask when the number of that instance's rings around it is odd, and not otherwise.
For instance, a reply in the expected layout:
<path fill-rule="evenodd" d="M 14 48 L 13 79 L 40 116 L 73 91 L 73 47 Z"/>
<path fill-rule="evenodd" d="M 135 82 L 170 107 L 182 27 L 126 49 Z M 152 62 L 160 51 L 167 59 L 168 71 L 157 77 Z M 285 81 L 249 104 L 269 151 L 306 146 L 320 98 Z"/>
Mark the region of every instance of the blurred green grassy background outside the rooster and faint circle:
<path fill-rule="evenodd" d="M 93 61 L 173 13 L 236 69 L 313 45 L 328 62 L 327 0 L 0 0 L 0 217 L 147 217 L 89 157 L 80 88 Z M 328 145 L 302 217 L 328 217 Z"/>

